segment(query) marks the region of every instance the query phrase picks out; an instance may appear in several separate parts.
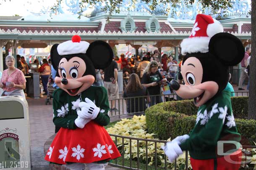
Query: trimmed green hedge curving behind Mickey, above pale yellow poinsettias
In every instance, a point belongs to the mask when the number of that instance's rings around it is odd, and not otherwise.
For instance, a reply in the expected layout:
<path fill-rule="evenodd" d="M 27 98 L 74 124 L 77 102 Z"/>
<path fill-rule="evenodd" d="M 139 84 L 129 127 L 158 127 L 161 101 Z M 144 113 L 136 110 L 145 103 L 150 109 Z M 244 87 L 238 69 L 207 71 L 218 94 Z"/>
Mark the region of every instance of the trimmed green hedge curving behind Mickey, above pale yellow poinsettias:
<path fill-rule="evenodd" d="M 246 99 L 247 98 L 247 99 Z M 248 97 L 232 97 L 235 117 L 247 117 Z M 146 109 L 146 125 L 149 133 L 156 133 L 160 140 L 188 134 L 196 123 L 197 109 L 192 100 L 168 101 Z M 245 114 L 246 113 L 246 114 Z M 239 116 L 238 116 L 239 115 Z M 242 134 L 242 145 L 256 142 L 256 120 L 235 119 L 238 132 Z"/>

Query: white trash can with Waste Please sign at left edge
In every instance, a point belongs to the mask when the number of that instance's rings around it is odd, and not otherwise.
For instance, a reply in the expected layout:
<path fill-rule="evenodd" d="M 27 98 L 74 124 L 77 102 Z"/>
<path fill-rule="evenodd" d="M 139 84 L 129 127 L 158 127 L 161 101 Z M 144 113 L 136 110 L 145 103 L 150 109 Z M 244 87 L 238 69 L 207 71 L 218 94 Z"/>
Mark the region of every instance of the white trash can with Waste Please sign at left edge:
<path fill-rule="evenodd" d="M 0 169 L 30 170 L 29 109 L 21 96 L 0 97 Z"/>

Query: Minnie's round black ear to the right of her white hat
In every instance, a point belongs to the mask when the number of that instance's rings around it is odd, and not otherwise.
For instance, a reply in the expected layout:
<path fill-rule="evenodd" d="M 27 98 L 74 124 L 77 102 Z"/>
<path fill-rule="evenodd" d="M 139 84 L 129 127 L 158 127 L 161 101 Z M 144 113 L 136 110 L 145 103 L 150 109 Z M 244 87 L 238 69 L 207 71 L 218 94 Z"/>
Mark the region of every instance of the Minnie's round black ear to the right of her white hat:
<path fill-rule="evenodd" d="M 94 41 L 86 51 L 95 69 L 104 69 L 110 65 L 113 59 L 113 51 L 105 41 Z"/>

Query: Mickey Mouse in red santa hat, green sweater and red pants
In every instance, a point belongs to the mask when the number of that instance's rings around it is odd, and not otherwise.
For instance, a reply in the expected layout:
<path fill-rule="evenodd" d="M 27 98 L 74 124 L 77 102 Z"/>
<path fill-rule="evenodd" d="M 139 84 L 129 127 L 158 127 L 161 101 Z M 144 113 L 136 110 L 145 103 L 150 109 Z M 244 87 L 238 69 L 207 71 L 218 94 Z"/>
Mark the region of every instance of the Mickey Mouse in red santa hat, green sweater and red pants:
<path fill-rule="evenodd" d="M 194 99 L 199 109 L 190 134 L 168 142 L 163 147 L 165 154 L 173 162 L 188 150 L 193 170 L 238 170 L 241 137 L 232 114 L 231 93 L 223 89 L 228 66 L 240 63 L 244 56 L 243 44 L 223 33 L 222 25 L 210 15 L 199 14 L 191 36 L 180 46 L 185 55 L 181 66 L 185 85 L 173 80 L 171 88 L 183 99 Z"/>

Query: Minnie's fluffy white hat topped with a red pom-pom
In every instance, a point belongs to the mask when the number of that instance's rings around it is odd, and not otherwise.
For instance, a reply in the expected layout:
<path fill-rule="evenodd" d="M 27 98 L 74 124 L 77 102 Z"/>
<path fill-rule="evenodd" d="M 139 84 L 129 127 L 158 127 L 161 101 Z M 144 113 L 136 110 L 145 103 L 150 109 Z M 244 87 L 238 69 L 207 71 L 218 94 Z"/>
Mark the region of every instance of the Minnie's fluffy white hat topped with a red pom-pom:
<path fill-rule="evenodd" d="M 72 37 L 72 40 L 65 41 L 60 43 L 57 46 L 57 51 L 60 56 L 86 53 L 86 50 L 89 48 L 89 43 L 86 41 L 81 41 L 81 37 L 75 35 Z"/>

